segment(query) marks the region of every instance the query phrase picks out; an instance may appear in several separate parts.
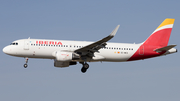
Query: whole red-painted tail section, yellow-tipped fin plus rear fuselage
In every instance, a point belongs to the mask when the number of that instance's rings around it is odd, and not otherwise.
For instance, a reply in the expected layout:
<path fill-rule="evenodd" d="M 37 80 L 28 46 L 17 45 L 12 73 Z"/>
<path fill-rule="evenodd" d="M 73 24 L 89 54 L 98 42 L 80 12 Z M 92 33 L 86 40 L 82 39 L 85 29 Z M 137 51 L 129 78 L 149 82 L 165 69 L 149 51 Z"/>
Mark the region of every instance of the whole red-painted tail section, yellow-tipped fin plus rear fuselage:
<path fill-rule="evenodd" d="M 171 18 L 165 19 L 149 36 L 149 38 L 140 45 L 139 49 L 128 61 L 160 56 L 169 51 L 168 49 L 172 49 L 174 45 L 167 45 L 171 35 L 171 30 L 173 28 L 174 20 L 175 19 Z M 177 52 L 177 50 L 167 52 L 167 54 L 173 52 Z"/>

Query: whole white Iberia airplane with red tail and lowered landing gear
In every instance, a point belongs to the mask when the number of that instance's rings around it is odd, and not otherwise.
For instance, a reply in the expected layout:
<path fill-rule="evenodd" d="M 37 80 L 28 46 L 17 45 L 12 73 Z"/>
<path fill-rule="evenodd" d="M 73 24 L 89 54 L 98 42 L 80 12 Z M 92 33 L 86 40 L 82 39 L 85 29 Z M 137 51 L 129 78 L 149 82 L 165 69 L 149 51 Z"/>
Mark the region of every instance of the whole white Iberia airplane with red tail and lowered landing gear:
<path fill-rule="evenodd" d="M 166 18 L 157 29 L 142 43 L 110 43 L 120 25 L 110 35 L 96 42 L 20 39 L 3 48 L 7 55 L 24 57 L 24 68 L 29 58 L 54 59 L 55 67 L 69 67 L 82 64 L 81 72 L 89 68 L 87 62 L 125 62 L 176 53 L 176 45 L 168 45 L 175 19 Z"/>

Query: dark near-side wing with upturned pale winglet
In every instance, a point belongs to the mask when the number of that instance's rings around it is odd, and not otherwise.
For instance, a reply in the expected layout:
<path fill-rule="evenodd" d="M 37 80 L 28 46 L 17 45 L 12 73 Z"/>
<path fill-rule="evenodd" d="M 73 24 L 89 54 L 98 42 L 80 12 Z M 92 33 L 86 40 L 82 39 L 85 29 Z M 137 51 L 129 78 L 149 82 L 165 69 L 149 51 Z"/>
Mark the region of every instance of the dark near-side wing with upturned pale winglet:
<path fill-rule="evenodd" d="M 94 56 L 94 52 L 99 52 L 98 50 L 101 49 L 101 48 L 104 48 L 107 44 L 106 42 L 109 41 L 111 38 L 113 38 L 117 32 L 117 30 L 119 29 L 119 26 L 118 25 L 112 32 L 109 36 L 99 40 L 99 41 L 96 41 L 92 44 L 89 44 L 87 46 L 84 46 L 82 48 L 79 48 L 77 50 L 75 50 L 74 52 L 76 53 L 79 53 L 81 56 L 84 55 L 84 56 L 89 56 L 89 57 L 93 57 Z"/>

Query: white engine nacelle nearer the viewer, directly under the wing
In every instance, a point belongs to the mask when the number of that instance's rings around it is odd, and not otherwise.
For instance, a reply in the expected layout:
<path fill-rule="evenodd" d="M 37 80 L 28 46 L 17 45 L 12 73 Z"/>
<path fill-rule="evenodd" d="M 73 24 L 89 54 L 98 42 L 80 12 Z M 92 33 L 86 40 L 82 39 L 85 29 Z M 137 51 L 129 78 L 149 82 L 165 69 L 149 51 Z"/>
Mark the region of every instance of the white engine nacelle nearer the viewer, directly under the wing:
<path fill-rule="evenodd" d="M 72 52 L 56 51 L 53 56 L 55 56 L 56 61 L 62 62 L 80 59 L 80 56 L 78 54 Z"/>

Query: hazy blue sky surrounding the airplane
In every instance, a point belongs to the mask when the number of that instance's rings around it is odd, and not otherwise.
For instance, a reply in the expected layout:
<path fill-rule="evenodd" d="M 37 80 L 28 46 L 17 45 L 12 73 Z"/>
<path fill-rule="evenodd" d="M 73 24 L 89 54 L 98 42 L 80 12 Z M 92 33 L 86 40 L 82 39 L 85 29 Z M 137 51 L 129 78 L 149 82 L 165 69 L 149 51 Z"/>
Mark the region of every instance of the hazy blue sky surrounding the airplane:
<path fill-rule="evenodd" d="M 0 47 L 23 38 L 97 41 L 118 25 L 110 42 L 140 43 L 165 18 L 175 18 L 169 44 L 180 45 L 180 1 L 1 0 Z M 179 49 L 179 46 L 176 46 Z M 134 62 L 55 68 L 53 60 L 0 52 L 2 101 L 179 101 L 179 53 Z"/>

